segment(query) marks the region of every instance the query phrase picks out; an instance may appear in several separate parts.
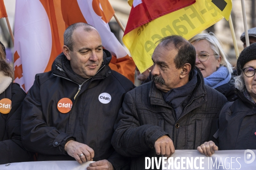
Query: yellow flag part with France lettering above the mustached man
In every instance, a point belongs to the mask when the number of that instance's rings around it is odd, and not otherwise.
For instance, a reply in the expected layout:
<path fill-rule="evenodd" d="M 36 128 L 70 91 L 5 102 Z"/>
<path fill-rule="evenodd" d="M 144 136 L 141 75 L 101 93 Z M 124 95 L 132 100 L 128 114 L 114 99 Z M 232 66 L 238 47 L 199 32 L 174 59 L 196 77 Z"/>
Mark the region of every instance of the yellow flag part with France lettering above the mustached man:
<path fill-rule="evenodd" d="M 125 34 L 122 40 L 137 68 L 144 72 L 153 65 L 151 56 L 157 40 L 169 35 L 180 35 L 189 40 L 221 19 L 223 16 L 207 0 L 197 0 L 193 5 L 135 28 Z"/>

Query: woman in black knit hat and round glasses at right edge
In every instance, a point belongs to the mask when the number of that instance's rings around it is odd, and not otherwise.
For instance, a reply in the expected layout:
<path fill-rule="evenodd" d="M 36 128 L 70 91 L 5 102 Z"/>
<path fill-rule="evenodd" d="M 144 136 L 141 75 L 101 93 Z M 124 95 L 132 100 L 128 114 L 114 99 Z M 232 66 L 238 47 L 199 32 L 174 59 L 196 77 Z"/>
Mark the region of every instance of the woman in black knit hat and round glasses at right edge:
<path fill-rule="evenodd" d="M 212 123 L 210 141 L 197 148 L 206 156 L 215 150 L 256 149 L 256 43 L 244 48 L 236 67 L 237 99 L 224 105 Z"/>

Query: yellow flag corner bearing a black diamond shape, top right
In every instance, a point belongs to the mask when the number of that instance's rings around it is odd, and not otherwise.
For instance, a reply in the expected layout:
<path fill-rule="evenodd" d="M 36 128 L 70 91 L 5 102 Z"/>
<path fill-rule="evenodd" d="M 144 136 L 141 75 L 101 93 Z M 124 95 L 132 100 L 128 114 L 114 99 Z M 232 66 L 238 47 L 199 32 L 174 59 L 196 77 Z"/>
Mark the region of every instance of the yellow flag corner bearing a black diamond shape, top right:
<path fill-rule="evenodd" d="M 207 0 L 225 19 L 228 21 L 231 10 L 232 0 Z"/>

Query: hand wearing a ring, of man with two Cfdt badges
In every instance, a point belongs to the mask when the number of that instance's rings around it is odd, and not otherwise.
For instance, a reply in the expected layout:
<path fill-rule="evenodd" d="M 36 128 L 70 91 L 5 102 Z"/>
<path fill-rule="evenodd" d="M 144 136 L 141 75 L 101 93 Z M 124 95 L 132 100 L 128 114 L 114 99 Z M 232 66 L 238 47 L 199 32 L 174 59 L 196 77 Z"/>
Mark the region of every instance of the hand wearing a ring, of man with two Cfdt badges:
<path fill-rule="evenodd" d="M 67 154 L 75 158 L 79 164 L 92 161 L 94 157 L 94 150 L 87 146 L 86 144 L 82 144 L 73 140 L 68 141 L 65 144 L 65 151 Z M 81 154 L 84 154 L 80 157 Z"/>

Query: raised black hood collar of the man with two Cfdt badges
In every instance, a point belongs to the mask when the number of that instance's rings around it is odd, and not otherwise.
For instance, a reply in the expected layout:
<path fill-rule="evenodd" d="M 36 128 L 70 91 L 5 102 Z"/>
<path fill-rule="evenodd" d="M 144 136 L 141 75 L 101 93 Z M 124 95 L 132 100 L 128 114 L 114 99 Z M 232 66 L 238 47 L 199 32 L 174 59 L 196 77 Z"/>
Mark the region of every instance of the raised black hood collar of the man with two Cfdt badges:
<path fill-rule="evenodd" d="M 99 71 L 94 75 L 93 77 L 104 77 L 108 76 L 108 70 L 111 70 L 111 68 L 108 66 L 112 58 L 111 53 L 108 50 L 103 49 L 103 62 L 101 67 L 99 68 Z M 81 82 L 86 81 L 87 79 L 79 76 L 76 74 L 71 66 L 70 61 L 67 59 L 67 57 L 62 52 L 59 54 L 54 62 L 52 63 L 52 72 L 56 76 L 63 77 L 66 79 L 71 79 L 73 82 L 76 82 L 77 84 L 81 85 Z M 91 78 L 91 77 L 90 77 Z M 89 79 L 90 79 L 89 78 Z"/>

